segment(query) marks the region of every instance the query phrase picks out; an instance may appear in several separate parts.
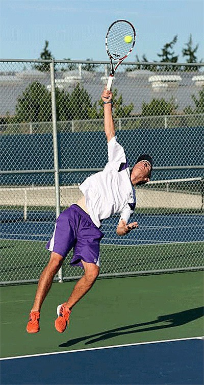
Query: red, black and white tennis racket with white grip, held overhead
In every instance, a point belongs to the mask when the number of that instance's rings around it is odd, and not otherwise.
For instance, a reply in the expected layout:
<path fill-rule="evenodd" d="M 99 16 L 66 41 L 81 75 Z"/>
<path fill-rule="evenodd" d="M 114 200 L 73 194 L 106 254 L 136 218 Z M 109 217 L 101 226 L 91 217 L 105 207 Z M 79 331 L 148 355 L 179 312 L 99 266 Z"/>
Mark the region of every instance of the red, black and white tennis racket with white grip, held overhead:
<path fill-rule="evenodd" d="M 135 40 L 135 28 L 129 21 L 117 20 L 109 27 L 106 35 L 106 51 L 111 64 L 111 74 L 107 83 L 109 91 L 118 65 L 133 51 Z"/>

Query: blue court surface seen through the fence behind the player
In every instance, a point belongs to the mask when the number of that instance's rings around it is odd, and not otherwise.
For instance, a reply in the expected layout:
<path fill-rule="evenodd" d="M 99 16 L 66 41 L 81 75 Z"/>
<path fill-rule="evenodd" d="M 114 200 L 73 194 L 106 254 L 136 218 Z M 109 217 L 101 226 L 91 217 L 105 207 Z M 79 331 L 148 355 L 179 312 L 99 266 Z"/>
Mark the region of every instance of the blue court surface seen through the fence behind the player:
<path fill-rule="evenodd" d="M 40 215 L 40 212 L 39 212 Z M 172 242 L 199 242 L 204 239 L 204 216 L 193 214 L 135 214 L 132 219 L 139 223 L 138 229 L 126 235 L 116 236 L 118 218 L 105 220 L 101 230 L 106 234 L 101 244 L 151 245 Z M 53 221 L 27 221 L 1 224 L 3 239 L 47 241 L 53 234 Z"/>

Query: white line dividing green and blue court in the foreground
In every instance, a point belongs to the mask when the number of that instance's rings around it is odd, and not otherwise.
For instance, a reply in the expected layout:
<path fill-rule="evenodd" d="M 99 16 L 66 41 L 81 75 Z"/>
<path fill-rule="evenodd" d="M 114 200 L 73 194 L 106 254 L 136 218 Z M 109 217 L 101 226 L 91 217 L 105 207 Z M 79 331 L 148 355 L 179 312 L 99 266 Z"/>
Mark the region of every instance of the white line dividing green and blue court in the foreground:
<path fill-rule="evenodd" d="M 113 348 L 123 348 L 126 346 L 137 346 L 137 345 L 149 345 L 149 344 L 158 344 L 162 342 L 174 342 L 174 341 L 187 341 L 187 340 L 203 340 L 203 336 L 197 336 L 197 337 L 188 337 L 188 338 L 177 338 L 173 340 L 161 340 L 161 341 L 148 341 L 148 342 L 136 342 L 135 344 L 124 344 L 124 345 L 113 345 L 113 346 L 101 346 L 98 348 L 87 348 L 87 349 L 76 349 L 76 350 L 66 350 L 63 352 L 52 352 L 52 353 L 40 353 L 40 354 L 29 354 L 29 355 L 19 355 L 16 357 L 5 357 L 0 358 L 0 361 L 6 360 L 6 359 L 16 359 L 16 358 L 27 358 L 27 357 L 41 357 L 44 355 L 53 355 L 53 354 L 64 354 L 64 353 L 77 353 L 77 352 L 84 352 L 84 351 L 90 351 L 90 350 L 102 350 L 102 349 L 113 349 Z"/>

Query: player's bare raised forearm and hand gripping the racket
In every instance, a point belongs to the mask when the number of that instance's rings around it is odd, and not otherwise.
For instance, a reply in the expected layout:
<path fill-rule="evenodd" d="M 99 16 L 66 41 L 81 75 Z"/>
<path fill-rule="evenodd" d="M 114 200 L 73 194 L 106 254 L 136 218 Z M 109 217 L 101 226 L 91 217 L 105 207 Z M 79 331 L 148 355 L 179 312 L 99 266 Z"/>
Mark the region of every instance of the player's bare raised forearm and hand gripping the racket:
<path fill-rule="evenodd" d="M 115 136 L 115 126 L 113 121 L 111 102 L 112 96 L 113 93 L 108 91 L 106 88 L 101 94 L 101 99 L 104 102 L 104 129 L 108 142 Z"/>

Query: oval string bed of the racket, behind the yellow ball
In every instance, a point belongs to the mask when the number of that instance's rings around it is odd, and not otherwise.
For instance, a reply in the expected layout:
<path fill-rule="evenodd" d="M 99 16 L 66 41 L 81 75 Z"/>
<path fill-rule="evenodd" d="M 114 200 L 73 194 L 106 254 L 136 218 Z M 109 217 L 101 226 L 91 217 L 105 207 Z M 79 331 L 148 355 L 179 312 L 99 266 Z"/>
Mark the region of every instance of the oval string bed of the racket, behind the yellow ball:
<path fill-rule="evenodd" d="M 130 44 L 124 41 L 125 36 L 131 36 L 132 42 Z M 119 61 L 127 55 L 132 49 L 135 39 L 135 34 L 132 26 L 125 21 L 116 22 L 109 30 L 107 35 L 107 48 L 116 61 Z"/>

